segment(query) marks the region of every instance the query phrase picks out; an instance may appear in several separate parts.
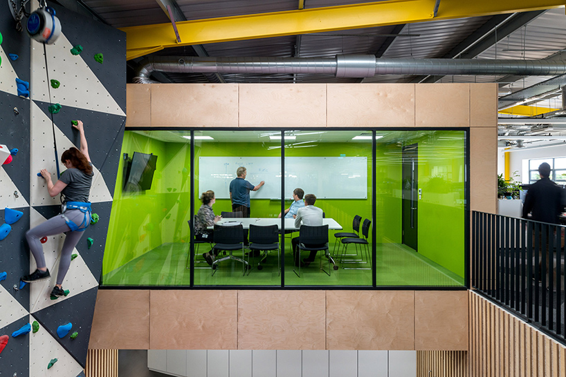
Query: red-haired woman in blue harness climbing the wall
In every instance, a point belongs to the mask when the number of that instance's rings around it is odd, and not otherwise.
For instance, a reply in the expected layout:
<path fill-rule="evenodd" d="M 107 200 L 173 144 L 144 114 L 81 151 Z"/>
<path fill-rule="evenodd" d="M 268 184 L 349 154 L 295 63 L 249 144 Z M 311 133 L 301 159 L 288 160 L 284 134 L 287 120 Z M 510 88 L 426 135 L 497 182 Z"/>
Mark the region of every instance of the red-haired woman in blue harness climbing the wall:
<path fill-rule="evenodd" d="M 41 175 L 44 177 L 47 190 L 51 197 L 62 193 L 62 213 L 42 224 L 39 224 L 26 233 L 26 239 L 30 246 L 37 269 L 30 275 L 22 276 L 24 282 L 37 282 L 50 278 L 49 270 L 45 264 L 45 257 L 41 239 L 46 235 L 56 235 L 64 233 L 66 235 L 61 249 L 59 271 L 57 272 L 57 284 L 51 291 L 52 296 L 64 296 L 62 287 L 63 279 L 71 264 L 71 253 L 79 242 L 84 229 L 91 222 L 91 203 L 89 195 L 93 178 L 93 166 L 89 157 L 89 148 L 84 137 L 82 122 L 77 121 L 73 124 L 80 133 L 80 151 L 69 148 L 61 155 L 61 162 L 67 168 L 55 184 L 51 182 L 51 173 L 47 169 L 42 169 Z"/>

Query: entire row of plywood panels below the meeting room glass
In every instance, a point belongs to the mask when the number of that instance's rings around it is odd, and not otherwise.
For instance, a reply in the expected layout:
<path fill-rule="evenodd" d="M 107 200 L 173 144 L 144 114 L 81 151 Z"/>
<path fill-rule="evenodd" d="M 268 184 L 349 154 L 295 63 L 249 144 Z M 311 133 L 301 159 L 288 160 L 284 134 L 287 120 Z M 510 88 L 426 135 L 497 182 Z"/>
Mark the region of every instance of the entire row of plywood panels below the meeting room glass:
<path fill-rule="evenodd" d="M 467 296 L 467 291 L 102 289 L 90 347 L 467 349 Z M 150 307 L 149 318 L 127 314 L 136 307 Z M 149 334 L 149 341 L 136 334 Z M 442 342 L 446 337 L 450 341 Z"/>

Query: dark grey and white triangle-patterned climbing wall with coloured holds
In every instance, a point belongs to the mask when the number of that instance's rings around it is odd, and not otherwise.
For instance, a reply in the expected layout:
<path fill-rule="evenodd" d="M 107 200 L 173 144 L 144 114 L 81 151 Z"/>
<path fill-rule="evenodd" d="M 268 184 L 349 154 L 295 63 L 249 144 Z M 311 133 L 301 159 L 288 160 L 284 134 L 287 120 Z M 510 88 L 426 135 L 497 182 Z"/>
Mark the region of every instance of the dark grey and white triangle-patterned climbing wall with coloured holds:
<path fill-rule="evenodd" d="M 5 213 L 10 212 L 5 209 L 22 213 L 0 240 L 0 337 L 9 336 L 0 351 L 0 377 L 84 376 L 125 124 L 125 34 L 53 3 L 48 5 L 61 21 L 62 35 L 45 46 L 44 55 L 41 43 L 17 32 L 8 2 L 0 1 L 0 145 L 18 149 L 10 164 L 0 166 L 0 238 L 6 229 Z M 32 6 L 37 8 L 37 2 Z M 77 44 L 83 50 L 75 56 L 71 48 Z M 104 56 L 102 64 L 94 59 L 98 53 Z M 18 58 L 12 60 L 10 54 Z M 47 74 L 60 81 L 59 88 L 48 87 Z M 18 97 L 16 77 L 28 81 L 30 98 Z M 53 114 L 57 159 L 48 111 L 55 103 L 62 106 Z M 43 244 L 50 280 L 21 287 L 19 278 L 36 268 L 26 231 L 60 213 L 59 197 L 48 195 L 37 172 L 46 168 L 55 182 L 56 164 L 64 171 L 61 154 L 80 146 L 79 133 L 71 126 L 73 119 L 84 122 L 95 171 L 90 200 L 100 220 L 84 231 L 73 250 L 76 257 L 63 281 L 69 295 L 51 300 L 65 235 L 49 236 Z M 87 239 L 92 240 L 90 247 Z M 3 272 L 5 280 L 1 280 Z M 37 332 L 12 336 L 35 321 Z M 60 338 L 57 329 L 69 322 L 71 331 Z M 71 339 L 75 331 L 78 335 Z"/>

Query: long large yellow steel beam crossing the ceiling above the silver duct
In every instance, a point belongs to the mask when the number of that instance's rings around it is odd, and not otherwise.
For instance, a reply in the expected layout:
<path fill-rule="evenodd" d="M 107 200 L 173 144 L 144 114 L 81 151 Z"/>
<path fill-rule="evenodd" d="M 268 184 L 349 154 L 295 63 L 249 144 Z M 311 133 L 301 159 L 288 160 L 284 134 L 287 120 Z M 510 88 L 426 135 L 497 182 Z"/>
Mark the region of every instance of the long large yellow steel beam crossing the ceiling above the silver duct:
<path fill-rule="evenodd" d="M 526 12 L 564 6 L 566 0 L 442 0 L 435 20 Z M 163 46 L 187 46 L 299 35 L 313 32 L 369 28 L 433 19 L 435 0 L 391 0 L 327 8 L 312 8 L 201 19 L 176 23 L 183 43 L 177 43 L 170 23 L 122 28 L 127 59 L 134 52 Z M 139 55 L 138 55 L 139 56 Z"/>

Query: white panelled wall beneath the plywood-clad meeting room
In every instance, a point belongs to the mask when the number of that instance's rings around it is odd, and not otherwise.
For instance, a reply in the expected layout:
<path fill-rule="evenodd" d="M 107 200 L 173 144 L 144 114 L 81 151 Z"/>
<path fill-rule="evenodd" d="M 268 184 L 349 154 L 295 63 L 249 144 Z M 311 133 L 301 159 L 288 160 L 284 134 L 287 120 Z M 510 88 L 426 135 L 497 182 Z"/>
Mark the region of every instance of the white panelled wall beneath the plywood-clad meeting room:
<path fill-rule="evenodd" d="M 417 351 L 150 349 L 147 367 L 181 377 L 414 377 Z"/>

